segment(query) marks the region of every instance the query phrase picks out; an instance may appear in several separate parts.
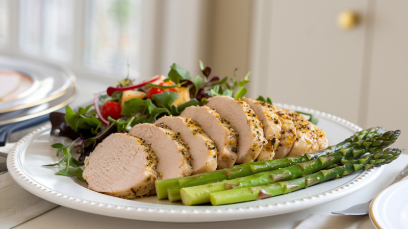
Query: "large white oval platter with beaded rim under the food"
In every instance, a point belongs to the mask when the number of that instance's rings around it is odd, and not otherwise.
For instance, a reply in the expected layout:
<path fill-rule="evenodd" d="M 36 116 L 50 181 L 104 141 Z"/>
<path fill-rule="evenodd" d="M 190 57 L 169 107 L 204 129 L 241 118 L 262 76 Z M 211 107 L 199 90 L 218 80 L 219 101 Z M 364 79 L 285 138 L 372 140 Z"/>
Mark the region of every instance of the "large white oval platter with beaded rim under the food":
<path fill-rule="evenodd" d="M 275 104 L 319 116 L 330 145 L 348 138 L 359 126 L 344 119 L 307 108 Z M 55 173 L 58 167 L 45 167 L 60 160 L 50 145 L 66 138 L 49 136 L 50 125 L 22 138 L 10 151 L 7 166 L 13 179 L 24 189 L 48 201 L 94 214 L 158 222 L 214 222 L 279 215 L 311 208 L 347 196 L 365 187 L 381 173 L 382 167 L 350 174 L 293 193 L 262 200 L 224 206 L 183 206 L 181 202 L 158 200 L 156 196 L 134 200 L 120 199 L 87 189 L 87 183 Z M 61 155 L 60 155 L 61 157 Z M 73 157 L 77 157 L 73 154 Z"/>

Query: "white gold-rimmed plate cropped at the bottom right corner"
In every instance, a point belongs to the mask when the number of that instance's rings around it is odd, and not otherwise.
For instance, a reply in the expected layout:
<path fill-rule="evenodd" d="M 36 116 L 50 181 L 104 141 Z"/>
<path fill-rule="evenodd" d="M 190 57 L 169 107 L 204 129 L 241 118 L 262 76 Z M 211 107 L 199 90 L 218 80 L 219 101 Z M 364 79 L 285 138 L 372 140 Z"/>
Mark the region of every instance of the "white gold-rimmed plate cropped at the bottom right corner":
<path fill-rule="evenodd" d="M 408 179 L 382 190 L 370 205 L 369 215 L 377 229 L 408 229 Z"/>

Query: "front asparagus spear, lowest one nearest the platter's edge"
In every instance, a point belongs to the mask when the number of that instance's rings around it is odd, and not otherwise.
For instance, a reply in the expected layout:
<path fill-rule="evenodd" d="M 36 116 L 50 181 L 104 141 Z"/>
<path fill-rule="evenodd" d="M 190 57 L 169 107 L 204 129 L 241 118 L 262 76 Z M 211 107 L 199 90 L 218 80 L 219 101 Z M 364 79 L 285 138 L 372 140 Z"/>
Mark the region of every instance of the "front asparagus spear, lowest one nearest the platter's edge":
<path fill-rule="evenodd" d="M 398 158 L 403 149 L 387 148 L 384 151 L 370 154 L 362 159 L 345 163 L 342 166 L 334 167 L 327 170 L 321 170 L 308 176 L 300 177 L 291 181 L 283 181 L 275 184 L 267 184 L 258 187 L 249 187 L 241 189 L 231 189 L 222 192 L 210 194 L 212 205 L 225 205 L 228 203 L 244 202 L 256 199 L 268 198 L 271 196 L 287 194 L 299 189 L 307 188 L 346 174 L 364 170 L 373 164 L 388 164 Z"/>

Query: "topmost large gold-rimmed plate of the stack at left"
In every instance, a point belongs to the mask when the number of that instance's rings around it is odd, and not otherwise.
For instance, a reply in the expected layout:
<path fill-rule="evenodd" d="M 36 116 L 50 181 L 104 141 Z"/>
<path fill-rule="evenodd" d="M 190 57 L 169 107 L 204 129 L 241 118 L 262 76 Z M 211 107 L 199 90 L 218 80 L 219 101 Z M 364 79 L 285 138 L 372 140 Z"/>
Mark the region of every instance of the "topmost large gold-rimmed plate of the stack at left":
<path fill-rule="evenodd" d="M 67 68 L 22 58 L 0 56 L 0 73 L 9 90 L 0 96 L 0 113 L 35 107 L 55 100 L 75 86 L 75 76 Z M 8 88 L 8 85 L 2 85 Z"/>

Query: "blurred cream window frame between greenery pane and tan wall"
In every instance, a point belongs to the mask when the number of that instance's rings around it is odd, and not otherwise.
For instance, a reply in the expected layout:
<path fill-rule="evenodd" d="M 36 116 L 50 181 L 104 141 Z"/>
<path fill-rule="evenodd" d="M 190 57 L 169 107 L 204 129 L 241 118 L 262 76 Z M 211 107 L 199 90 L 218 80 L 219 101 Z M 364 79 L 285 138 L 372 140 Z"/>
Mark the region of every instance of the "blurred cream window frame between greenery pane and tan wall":
<path fill-rule="evenodd" d="M 143 2 L 142 79 L 167 75 L 173 63 L 195 75 L 199 73 L 198 60 L 210 62 L 211 6 L 206 0 Z"/>

